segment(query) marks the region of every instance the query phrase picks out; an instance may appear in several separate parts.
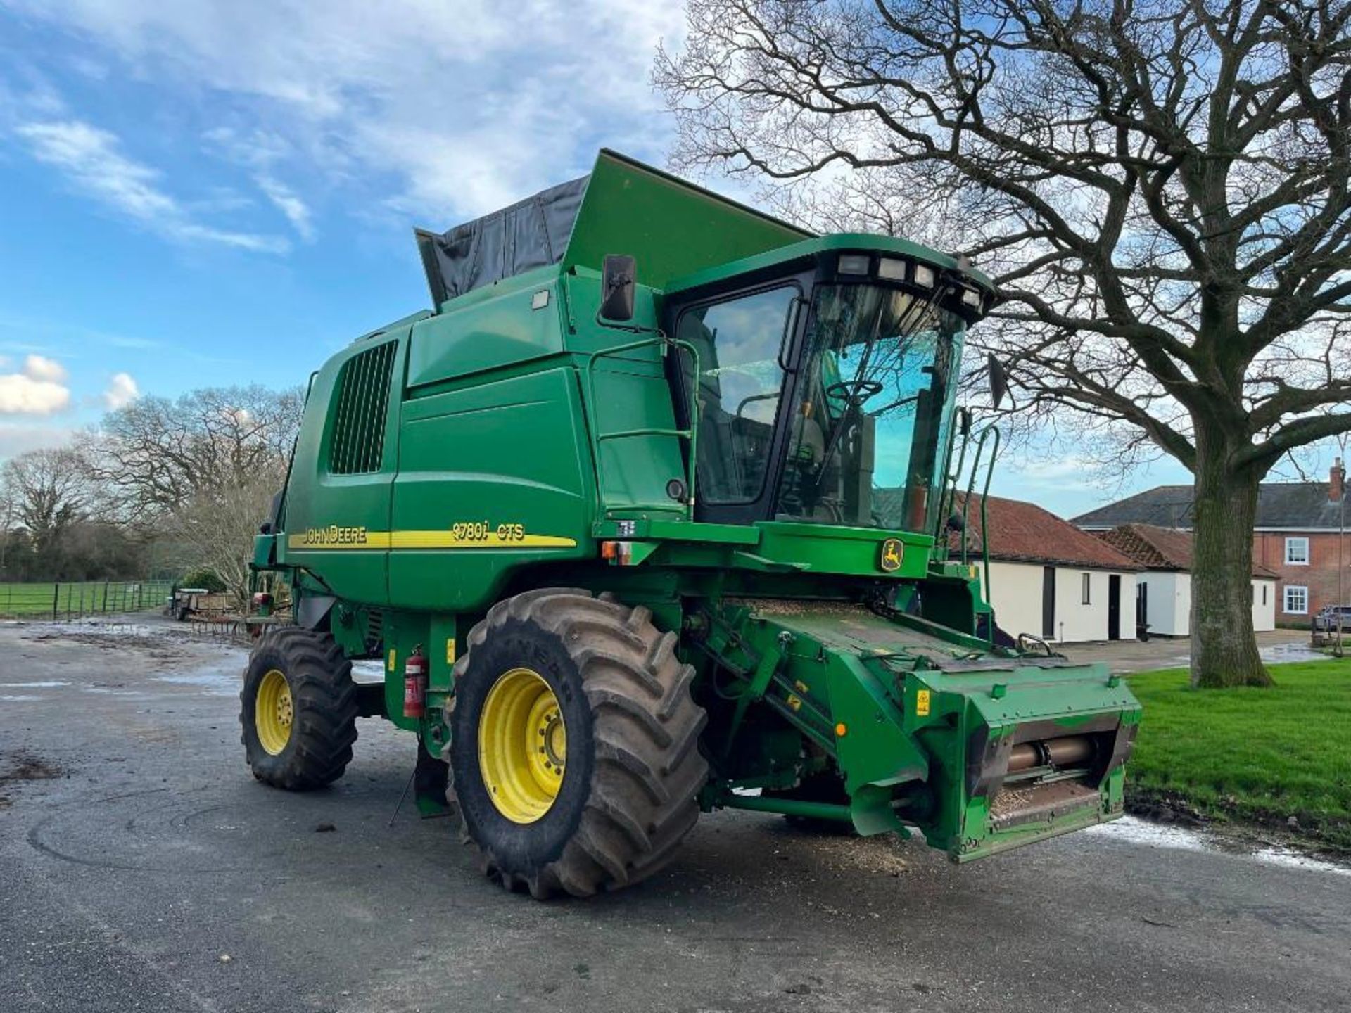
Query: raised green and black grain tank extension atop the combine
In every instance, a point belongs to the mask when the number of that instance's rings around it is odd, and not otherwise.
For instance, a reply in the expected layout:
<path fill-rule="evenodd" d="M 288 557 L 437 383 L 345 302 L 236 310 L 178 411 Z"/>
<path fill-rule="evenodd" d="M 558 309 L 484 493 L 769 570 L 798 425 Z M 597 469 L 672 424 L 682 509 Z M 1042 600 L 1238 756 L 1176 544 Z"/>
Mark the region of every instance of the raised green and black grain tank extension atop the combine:
<path fill-rule="evenodd" d="M 416 230 L 432 305 L 535 267 L 600 270 L 605 254 L 638 258 L 654 288 L 681 274 L 811 238 L 786 222 L 601 150 L 589 176 L 449 232 Z"/>

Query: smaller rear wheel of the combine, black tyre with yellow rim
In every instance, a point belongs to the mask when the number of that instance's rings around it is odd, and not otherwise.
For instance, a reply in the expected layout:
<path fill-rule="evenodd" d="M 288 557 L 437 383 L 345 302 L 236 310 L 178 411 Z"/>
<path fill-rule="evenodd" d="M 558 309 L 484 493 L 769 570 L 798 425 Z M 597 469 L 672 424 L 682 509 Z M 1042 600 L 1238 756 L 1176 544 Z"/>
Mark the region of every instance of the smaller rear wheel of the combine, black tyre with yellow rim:
<path fill-rule="evenodd" d="M 327 633 L 269 631 L 249 658 L 239 694 L 240 742 L 253 775 L 289 791 L 343 775 L 357 742 L 351 662 Z"/>

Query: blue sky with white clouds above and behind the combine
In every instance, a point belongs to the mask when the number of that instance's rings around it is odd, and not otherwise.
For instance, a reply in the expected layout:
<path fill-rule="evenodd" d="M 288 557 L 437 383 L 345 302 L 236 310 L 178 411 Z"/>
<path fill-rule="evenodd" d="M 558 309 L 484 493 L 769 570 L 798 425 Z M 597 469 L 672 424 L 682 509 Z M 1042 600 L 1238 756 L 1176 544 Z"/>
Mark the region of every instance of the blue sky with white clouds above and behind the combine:
<path fill-rule="evenodd" d="M 0 459 L 138 396 L 303 384 L 427 305 L 415 226 L 601 146 L 663 165 L 681 30 L 628 0 L 0 0 Z M 994 492 L 1070 516 L 1177 481 L 1020 454 Z"/>

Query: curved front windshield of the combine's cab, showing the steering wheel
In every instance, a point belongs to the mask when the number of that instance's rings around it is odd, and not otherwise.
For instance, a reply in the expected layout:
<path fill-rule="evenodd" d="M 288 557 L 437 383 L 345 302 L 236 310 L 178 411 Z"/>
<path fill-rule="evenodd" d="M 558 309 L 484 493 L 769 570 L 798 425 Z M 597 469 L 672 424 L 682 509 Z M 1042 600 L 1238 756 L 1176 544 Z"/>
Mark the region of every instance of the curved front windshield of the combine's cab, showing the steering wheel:
<path fill-rule="evenodd" d="M 928 531 L 965 324 L 881 285 L 819 285 L 789 405 L 777 517 Z"/>

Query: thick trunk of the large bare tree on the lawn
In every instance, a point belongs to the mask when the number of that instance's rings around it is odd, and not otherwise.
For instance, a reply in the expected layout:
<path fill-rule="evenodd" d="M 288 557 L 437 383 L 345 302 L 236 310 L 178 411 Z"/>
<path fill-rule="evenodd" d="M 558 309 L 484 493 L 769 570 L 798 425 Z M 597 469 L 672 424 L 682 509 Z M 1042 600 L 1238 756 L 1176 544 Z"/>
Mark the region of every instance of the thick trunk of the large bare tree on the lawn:
<path fill-rule="evenodd" d="M 1197 432 L 1192 539 L 1192 685 L 1270 686 L 1252 631 L 1252 523 L 1258 481 L 1235 470 L 1221 434 Z"/>

